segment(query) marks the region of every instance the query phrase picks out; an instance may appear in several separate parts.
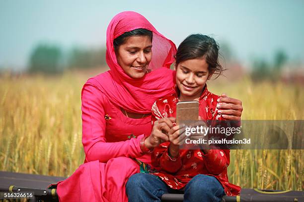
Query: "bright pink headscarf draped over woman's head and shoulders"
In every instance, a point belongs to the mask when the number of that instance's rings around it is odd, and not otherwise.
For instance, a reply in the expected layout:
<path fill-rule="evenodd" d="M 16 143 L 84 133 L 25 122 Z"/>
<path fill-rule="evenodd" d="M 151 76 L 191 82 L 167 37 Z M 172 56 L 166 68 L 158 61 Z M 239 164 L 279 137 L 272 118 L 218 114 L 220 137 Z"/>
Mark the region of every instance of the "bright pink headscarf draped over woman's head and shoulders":
<path fill-rule="evenodd" d="M 144 28 L 153 32 L 152 60 L 143 78 L 133 79 L 117 63 L 113 41 L 125 32 Z M 154 101 L 174 93 L 175 76 L 170 70 L 174 61 L 174 43 L 160 33 L 141 14 L 125 11 L 117 14 L 107 29 L 106 61 L 110 70 L 89 79 L 85 85 L 98 88 L 110 101 L 129 112 L 151 113 Z"/>

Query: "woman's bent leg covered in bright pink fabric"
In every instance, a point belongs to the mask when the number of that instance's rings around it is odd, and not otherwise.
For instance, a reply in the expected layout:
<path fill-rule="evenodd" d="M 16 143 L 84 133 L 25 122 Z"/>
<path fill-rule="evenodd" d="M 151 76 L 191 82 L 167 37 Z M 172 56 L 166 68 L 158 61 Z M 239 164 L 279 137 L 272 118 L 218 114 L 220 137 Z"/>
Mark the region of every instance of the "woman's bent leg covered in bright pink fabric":
<path fill-rule="evenodd" d="M 125 186 L 139 165 L 128 157 L 116 157 L 107 163 L 98 160 L 83 163 L 68 179 L 58 183 L 60 202 L 127 202 Z"/>

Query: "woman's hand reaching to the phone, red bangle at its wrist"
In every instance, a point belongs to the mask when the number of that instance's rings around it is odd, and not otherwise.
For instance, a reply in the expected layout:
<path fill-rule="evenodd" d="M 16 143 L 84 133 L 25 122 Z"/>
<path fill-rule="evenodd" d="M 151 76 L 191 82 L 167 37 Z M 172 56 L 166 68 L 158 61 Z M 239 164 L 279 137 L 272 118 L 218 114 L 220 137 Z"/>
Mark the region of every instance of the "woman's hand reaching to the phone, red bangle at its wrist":
<path fill-rule="evenodd" d="M 168 132 L 173 127 L 176 118 L 162 118 L 154 122 L 151 135 L 145 140 L 145 146 L 148 149 L 157 147 L 159 144 L 168 141 Z"/>

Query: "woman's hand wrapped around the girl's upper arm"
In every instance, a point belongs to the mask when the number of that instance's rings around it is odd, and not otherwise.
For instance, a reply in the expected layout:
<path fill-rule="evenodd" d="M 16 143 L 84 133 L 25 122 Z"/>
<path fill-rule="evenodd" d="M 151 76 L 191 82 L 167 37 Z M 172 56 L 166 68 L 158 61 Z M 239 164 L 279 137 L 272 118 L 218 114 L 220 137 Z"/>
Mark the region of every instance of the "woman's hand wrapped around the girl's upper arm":
<path fill-rule="evenodd" d="M 218 102 L 218 113 L 222 114 L 223 118 L 240 121 L 243 111 L 242 102 L 240 100 L 228 98 L 228 96 L 223 93 L 222 97 L 218 99 Z"/>

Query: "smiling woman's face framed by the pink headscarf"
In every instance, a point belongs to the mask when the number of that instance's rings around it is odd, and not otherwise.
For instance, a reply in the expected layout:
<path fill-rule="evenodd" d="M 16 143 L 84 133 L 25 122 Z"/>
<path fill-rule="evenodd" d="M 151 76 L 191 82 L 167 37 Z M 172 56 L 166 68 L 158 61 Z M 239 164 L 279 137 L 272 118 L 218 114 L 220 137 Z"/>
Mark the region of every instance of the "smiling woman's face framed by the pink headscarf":
<path fill-rule="evenodd" d="M 131 36 L 115 51 L 118 64 L 130 77 L 142 78 L 152 59 L 152 41 L 149 36 Z"/>

